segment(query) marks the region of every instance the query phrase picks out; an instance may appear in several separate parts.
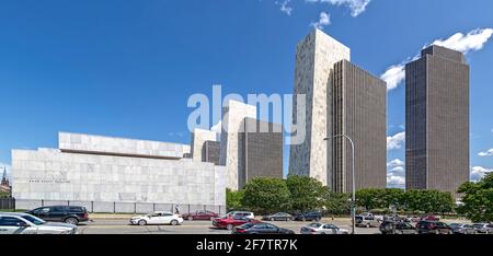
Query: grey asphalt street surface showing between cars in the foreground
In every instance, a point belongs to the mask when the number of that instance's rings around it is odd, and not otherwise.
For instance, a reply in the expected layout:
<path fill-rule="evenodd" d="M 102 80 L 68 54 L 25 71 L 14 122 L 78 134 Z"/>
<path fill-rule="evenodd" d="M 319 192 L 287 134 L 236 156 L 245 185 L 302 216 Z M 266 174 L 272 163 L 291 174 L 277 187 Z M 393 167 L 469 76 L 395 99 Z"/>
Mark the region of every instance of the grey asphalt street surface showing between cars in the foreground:
<path fill-rule="evenodd" d="M 324 219 L 324 223 L 332 223 L 351 232 L 349 219 Z M 273 221 L 279 228 L 289 229 L 299 234 L 300 229 L 311 222 Z M 210 221 L 185 221 L 182 225 L 129 225 L 128 219 L 93 218 L 92 222 L 79 225 L 80 234 L 229 234 L 228 230 L 213 228 Z M 378 228 L 356 228 L 357 234 L 379 234 Z"/>

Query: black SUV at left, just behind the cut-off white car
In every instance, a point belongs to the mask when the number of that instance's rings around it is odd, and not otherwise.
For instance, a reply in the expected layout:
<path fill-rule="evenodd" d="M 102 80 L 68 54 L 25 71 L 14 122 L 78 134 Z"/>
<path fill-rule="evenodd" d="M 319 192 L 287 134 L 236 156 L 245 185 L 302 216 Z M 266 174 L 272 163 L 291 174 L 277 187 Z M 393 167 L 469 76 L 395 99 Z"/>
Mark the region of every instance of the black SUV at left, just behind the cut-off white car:
<path fill-rule="evenodd" d="M 49 222 L 66 222 L 77 225 L 80 222 L 89 221 L 89 213 L 85 207 L 79 206 L 49 206 L 39 207 L 26 213 L 41 218 Z"/>

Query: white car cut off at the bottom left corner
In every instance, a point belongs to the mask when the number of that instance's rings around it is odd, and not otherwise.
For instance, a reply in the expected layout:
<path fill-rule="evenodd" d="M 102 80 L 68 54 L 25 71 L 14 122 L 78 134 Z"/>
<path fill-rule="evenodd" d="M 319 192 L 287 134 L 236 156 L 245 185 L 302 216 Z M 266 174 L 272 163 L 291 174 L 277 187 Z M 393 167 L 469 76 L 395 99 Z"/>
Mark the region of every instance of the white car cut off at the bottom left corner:
<path fill-rule="evenodd" d="M 2 234 L 77 234 L 77 226 L 46 222 L 28 213 L 0 212 L 0 235 Z"/>

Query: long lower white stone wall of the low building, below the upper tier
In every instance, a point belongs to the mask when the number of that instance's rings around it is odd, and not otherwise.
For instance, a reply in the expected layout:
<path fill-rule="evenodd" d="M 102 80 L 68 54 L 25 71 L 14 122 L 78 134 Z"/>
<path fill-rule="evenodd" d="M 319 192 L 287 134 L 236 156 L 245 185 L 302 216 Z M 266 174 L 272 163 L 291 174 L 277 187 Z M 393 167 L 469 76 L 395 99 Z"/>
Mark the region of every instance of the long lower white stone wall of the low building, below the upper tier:
<path fill-rule="evenodd" d="M 226 205 L 226 168 L 192 160 L 13 150 L 12 175 L 24 200 Z"/>

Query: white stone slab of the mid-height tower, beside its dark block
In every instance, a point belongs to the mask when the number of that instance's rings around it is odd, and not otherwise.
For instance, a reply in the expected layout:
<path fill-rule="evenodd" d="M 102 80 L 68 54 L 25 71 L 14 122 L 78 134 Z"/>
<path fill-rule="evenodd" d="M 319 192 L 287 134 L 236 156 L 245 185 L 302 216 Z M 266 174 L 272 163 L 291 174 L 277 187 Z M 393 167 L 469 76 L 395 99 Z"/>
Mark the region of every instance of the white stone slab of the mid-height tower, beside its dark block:
<path fill-rule="evenodd" d="M 223 107 L 222 133 L 220 141 L 219 163 L 226 166 L 226 187 L 233 190 L 239 189 L 238 174 L 241 170 L 239 162 L 238 132 L 242 131 L 242 124 L 245 117 L 256 119 L 256 106 L 248 105 L 237 101 L 229 101 Z"/>

